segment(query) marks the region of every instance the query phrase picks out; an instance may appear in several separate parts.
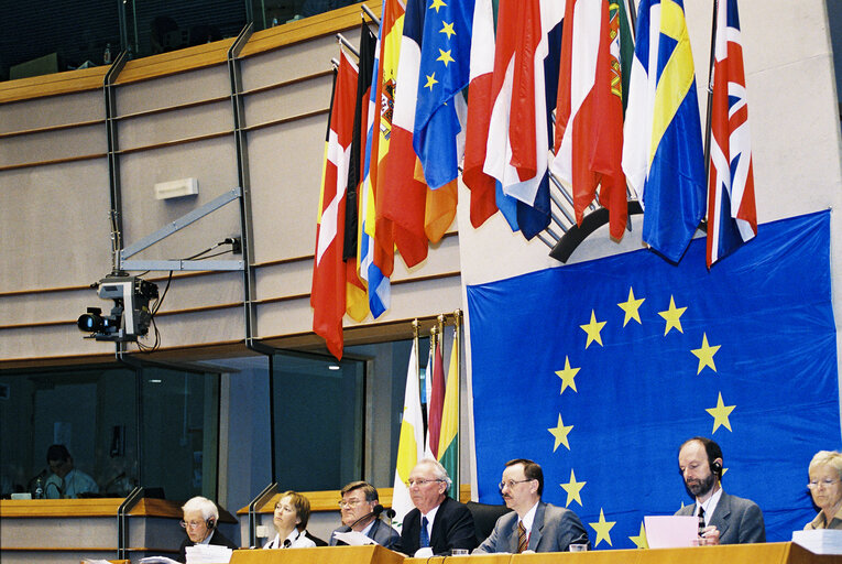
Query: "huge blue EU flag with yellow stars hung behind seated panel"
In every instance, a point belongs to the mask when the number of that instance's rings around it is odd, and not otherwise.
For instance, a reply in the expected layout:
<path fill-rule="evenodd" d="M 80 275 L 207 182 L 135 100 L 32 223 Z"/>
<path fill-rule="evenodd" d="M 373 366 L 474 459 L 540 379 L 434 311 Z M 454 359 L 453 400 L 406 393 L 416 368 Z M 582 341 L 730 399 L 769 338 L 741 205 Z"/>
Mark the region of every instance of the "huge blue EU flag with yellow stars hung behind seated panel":
<path fill-rule="evenodd" d="M 597 549 L 643 544 L 647 514 L 693 502 L 678 447 L 723 451 L 723 488 L 756 501 L 767 539 L 816 516 L 807 466 L 840 447 L 830 214 L 761 226 L 708 271 L 704 241 L 670 264 L 644 250 L 468 286 L 480 501 L 512 458 Z"/>

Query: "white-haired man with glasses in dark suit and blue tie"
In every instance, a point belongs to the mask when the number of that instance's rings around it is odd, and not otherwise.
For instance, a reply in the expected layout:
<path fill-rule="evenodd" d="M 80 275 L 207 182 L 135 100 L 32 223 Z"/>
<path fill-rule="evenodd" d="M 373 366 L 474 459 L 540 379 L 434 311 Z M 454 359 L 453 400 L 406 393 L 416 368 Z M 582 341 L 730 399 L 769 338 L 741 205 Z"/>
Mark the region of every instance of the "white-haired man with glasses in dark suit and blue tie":
<path fill-rule="evenodd" d="M 425 458 L 406 481 L 415 509 L 404 518 L 396 551 L 414 556 L 418 550 L 429 549 L 428 554 L 448 555 L 453 549 L 477 546 L 471 511 L 447 496 L 451 482 L 444 466 Z"/>

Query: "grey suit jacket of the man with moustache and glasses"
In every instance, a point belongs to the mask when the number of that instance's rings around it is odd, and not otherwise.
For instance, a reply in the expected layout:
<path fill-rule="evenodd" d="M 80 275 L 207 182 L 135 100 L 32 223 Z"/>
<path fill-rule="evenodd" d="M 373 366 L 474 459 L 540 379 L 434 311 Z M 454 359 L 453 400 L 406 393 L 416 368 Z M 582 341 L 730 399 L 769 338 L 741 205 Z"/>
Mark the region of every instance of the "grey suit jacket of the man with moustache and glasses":
<path fill-rule="evenodd" d="M 572 542 L 590 544 L 579 517 L 569 509 L 539 501 L 527 549 L 535 552 L 564 552 Z M 489 538 L 473 551 L 474 554 L 492 552 L 517 552 L 517 513 L 514 511 L 497 519 Z"/>

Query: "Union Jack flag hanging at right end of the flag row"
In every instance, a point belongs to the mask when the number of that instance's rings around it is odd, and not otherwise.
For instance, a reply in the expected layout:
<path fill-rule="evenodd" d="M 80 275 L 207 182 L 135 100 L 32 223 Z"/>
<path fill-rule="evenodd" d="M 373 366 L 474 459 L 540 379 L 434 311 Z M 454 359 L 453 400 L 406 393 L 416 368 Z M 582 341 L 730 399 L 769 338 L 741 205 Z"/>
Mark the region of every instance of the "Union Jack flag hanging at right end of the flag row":
<path fill-rule="evenodd" d="M 708 268 L 757 235 L 748 104 L 736 0 L 717 8 L 708 185 Z"/>

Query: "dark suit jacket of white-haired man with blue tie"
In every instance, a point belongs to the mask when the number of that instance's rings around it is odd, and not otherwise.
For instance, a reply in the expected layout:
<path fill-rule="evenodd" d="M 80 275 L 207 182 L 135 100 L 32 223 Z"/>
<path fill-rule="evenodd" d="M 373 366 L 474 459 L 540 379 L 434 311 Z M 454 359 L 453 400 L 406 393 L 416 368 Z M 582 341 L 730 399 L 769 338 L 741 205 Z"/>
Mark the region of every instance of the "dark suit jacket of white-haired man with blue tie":
<path fill-rule="evenodd" d="M 412 556 L 420 544 L 420 511 L 413 509 L 404 518 L 401 542 L 394 550 Z M 455 499 L 445 498 L 433 521 L 433 534 L 429 539 L 433 554 L 450 554 L 453 549 L 473 550 L 477 535 L 473 531 L 473 517 L 468 506 Z"/>

